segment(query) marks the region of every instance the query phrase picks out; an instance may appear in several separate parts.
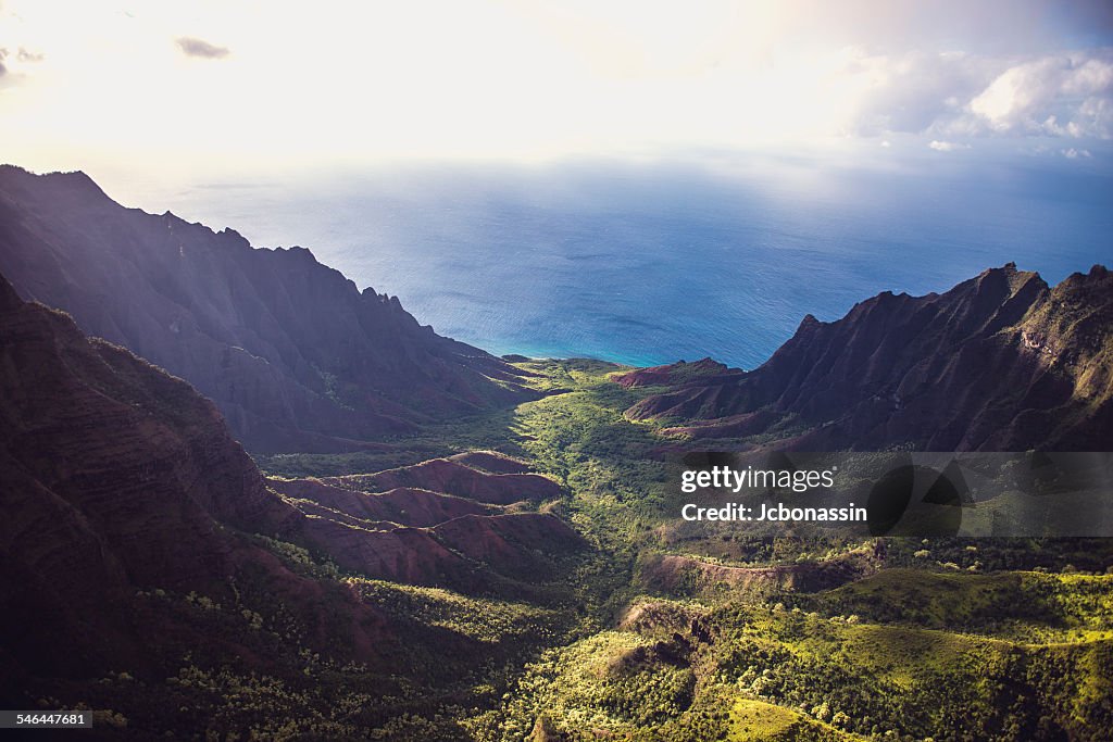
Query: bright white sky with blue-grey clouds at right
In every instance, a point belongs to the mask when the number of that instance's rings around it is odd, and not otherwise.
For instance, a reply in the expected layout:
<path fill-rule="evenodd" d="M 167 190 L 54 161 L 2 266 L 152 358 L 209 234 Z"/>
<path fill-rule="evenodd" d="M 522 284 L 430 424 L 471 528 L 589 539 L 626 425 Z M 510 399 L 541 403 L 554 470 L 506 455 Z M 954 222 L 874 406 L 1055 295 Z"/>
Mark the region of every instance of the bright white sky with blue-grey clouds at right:
<path fill-rule="evenodd" d="M 1113 140 L 1113 3 L 0 0 L 0 160 L 1043 157 Z"/>

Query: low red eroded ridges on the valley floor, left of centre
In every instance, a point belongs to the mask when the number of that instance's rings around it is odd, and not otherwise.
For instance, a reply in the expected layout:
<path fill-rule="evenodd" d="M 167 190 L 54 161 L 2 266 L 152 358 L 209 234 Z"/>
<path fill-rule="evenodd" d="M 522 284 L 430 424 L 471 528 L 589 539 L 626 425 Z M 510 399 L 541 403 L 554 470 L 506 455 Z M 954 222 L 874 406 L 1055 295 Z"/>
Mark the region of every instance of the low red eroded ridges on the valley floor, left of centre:
<path fill-rule="evenodd" d="M 460 458 L 489 466 L 514 462 L 492 454 Z M 551 577 L 552 557 L 584 545 L 560 518 L 522 511 L 562 495 L 538 474 L 491 474 L 435 458 L 378 474 L 270 484 L 315 516 L 306 522 L 307 535 L 341 566 L 387 580 L 473 592 L 483 588 L 487 571 Z"/>

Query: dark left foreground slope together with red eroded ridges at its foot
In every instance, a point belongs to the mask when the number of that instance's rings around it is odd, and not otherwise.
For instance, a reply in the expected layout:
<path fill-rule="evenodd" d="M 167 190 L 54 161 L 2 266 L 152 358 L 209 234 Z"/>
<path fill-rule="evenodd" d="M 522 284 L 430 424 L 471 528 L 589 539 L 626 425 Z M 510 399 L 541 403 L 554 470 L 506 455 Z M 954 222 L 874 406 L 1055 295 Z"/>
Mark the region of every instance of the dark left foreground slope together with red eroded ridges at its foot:
<path fill-rule="evenodd" d="M 248 640 L 214 637 L 211 625 L 164 610 L 155 591 L 196 593 L 233 615 L 280 605 L 307 646 L 337 656 L 395 651 L 397 626 L 381 609 L 341 581 L 298 573 L 268 540 L 354 575 L 467 592 L 552 572 L 554 555 L 582 545 L 554 516 L 499 504 L 560 494 L 538 475 L 435 461 L 359 482 L 265 479 L 189 384 L 87 338 L 2 276 L 0 423 L 3 698 L 28 687 L 28 673 L 157 674 L 183 646 L 266 669 Z M 412 488 L 365 492 L 402 481 Z"/>

